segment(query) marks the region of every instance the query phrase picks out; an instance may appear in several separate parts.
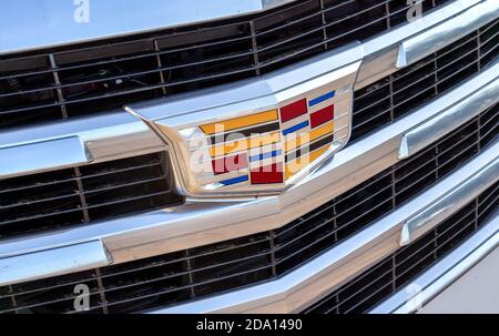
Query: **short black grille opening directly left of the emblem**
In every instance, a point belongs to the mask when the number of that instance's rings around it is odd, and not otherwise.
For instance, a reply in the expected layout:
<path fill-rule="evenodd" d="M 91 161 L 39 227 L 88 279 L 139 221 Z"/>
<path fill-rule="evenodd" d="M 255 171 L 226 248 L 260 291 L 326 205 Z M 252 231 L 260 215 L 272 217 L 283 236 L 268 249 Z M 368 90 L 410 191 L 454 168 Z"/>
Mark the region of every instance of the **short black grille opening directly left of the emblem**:
<path fill-rule="evenodd" d="M 0 238 L 179 203 L 164 153 L 0 180 Z"/>

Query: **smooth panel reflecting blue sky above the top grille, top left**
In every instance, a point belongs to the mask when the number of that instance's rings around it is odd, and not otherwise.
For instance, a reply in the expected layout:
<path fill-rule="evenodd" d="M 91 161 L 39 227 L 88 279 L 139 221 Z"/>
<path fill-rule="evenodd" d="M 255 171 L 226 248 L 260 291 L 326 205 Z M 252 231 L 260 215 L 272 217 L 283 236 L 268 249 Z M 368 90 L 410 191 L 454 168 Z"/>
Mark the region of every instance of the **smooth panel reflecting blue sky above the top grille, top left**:
<path fill-rule="evenodd" d="M 10 1 L 0 12 L 0 54 L 228 19 L 292 1 L 296 0 Z"/>

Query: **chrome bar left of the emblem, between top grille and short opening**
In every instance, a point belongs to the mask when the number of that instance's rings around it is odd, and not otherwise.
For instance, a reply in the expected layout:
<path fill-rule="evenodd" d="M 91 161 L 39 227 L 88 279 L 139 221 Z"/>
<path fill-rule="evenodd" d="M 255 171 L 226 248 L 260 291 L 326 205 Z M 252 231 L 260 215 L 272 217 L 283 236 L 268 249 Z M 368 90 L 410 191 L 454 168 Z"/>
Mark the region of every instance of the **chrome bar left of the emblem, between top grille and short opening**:
<path fill-rule="evenodd" d="M 12 149 L 9 156 L 3 156 L 8 149 Z M 154 132 L 135 116 L 118 111 L 0 132 L 0 155 L 9 157 L 0 161 L 7 165 L 1 169 L 0 163 L 0 179 L 159 151 L 165 146 Z"/>

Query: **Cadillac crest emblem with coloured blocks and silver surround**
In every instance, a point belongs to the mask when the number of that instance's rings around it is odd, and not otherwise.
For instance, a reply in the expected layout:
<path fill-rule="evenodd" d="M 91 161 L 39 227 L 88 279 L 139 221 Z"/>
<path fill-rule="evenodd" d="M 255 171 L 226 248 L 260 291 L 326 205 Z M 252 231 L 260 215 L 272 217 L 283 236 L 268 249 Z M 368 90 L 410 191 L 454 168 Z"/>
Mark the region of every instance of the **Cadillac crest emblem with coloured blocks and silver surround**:
<path fill-rule="evenodd" d="M 295 84 L 276 74 L 128 110 L 166 142 L 186 195 L 279 193 L 348 141 L 358 65 Z"/>

